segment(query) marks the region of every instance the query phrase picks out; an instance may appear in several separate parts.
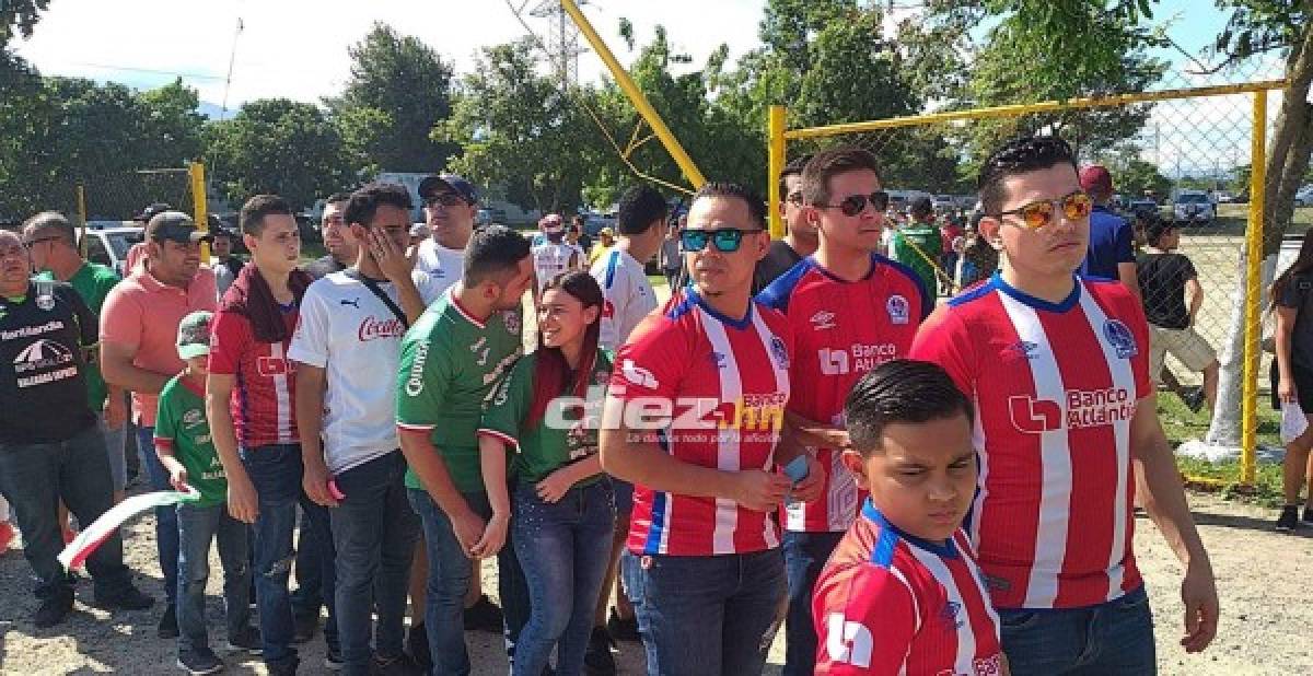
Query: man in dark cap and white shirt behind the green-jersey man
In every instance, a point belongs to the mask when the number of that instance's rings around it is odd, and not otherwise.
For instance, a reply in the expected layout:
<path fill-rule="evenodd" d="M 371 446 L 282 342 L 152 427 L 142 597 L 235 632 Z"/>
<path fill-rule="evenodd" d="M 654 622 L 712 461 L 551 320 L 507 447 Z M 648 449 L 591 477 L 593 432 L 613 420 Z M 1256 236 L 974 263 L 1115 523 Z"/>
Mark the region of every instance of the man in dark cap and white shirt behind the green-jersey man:
<path fill-rule="evenodd" d="M 419 244 L 415 269 L 428 273 L 445 290 L 461 278 L 479 194 L 470 181 L 444 173 L 420 181 L 419 198 L 424 202 L 424 222 L 432 236 Z"/>

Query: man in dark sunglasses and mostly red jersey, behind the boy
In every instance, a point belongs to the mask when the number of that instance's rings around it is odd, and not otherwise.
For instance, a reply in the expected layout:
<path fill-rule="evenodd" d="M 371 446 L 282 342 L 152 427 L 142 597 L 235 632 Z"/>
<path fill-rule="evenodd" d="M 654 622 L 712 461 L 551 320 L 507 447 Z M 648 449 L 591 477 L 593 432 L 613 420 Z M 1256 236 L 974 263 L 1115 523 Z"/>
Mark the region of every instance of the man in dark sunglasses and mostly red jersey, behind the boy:
<path fill-rule="evenodd" d="M 802 169 L 800 218 L 817 230 L 821 245 L 758 295 L 784 312 L 793 329 L 788 411 L 805 420 L 802 441 L 815 449 L 826 482 L 822 499 L 790 501 L 783 512 L 786 676 L 811 673 L 817 652 L 811 589 L 860 504 L 857 484 L 836 448 L 843 400 L 863 374 L 907 354 L 931 310 L 916 274 L 876 253 L 888 201 L 872 154 L 860 148 L 818 154 Z"/>

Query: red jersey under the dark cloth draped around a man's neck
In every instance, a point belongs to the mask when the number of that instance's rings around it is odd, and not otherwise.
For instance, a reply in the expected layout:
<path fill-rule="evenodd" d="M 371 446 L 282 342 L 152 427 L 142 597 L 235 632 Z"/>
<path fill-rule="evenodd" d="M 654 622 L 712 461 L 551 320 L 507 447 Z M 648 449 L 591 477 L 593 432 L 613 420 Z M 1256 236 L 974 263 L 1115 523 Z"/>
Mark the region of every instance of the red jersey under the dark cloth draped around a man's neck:
<path fill-rule="evenodd" d="M 297 308 L 282 312 L 288 340 L 259 343 L 251 320 L 221 310 L 214 315 L 210 339 L 210 373 L 235 375 L 228 410 L 238 444 L 253 449 L 270 444 L 297 444 L 295 369 L 288 347 L 297 326 Z"/>

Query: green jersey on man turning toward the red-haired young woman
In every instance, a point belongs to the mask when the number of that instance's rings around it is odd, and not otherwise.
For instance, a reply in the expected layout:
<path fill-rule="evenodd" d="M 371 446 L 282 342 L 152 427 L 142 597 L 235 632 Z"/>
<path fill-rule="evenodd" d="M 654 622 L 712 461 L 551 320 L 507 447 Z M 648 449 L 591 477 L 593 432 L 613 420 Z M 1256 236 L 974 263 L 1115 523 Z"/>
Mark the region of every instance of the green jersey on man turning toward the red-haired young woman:
<path fill-rule="evenodd" d="M 397 427 L 429 433 L 461 492 L 483 491 L 475 431 L 483 400 L 523 349 L 520 315 L 506 310 L 481 322 L 448 290 L 402 339 Z M 406 486 L 423 488 L 414 470 Z"/>

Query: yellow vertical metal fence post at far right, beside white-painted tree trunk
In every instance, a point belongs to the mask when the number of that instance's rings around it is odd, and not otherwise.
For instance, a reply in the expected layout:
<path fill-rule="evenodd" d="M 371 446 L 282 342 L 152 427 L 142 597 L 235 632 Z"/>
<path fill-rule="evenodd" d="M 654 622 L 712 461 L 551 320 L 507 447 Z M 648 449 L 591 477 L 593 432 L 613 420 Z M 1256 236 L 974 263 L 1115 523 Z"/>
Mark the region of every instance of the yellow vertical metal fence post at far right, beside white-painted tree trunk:
<path fill-rule="evenodd" d="M 1267 91 L 1254 92 L 1254 130 L 1250 138 L 1253 171 L 1249 176 L 1249 226 L 1245 228 L 1245 382 L 1241 396 L 1241 483 L 1254 483 L 1258 445 L 1258 306 L 1262 302 L 1263 211 L 1267 182 Z"/>

